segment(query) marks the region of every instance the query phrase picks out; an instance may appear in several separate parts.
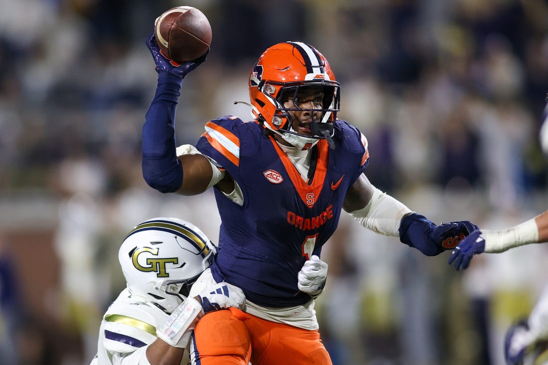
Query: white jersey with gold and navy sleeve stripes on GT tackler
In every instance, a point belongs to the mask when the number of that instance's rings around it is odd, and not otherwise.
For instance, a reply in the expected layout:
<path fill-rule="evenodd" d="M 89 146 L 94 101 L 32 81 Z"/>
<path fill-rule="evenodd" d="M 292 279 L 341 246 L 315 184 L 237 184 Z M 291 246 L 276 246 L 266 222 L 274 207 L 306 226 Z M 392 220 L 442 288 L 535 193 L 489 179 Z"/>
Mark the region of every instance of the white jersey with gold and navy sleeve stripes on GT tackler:
<path fill-rule="evenodd" d="M 150 365 L 146 349 L 157 338 L 156 328 L 167 318 L 146 298 L 125 288 L 103 316 L 97 356 L 90 365 Z"/>

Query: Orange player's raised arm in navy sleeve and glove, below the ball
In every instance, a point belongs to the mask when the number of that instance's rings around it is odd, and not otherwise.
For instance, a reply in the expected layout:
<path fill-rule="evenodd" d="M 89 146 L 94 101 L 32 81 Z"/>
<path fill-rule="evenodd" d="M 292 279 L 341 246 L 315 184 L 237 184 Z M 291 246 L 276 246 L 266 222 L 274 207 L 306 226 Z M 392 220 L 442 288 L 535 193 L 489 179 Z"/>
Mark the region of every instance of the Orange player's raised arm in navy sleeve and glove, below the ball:
<path fill-rule="evenodd" d="M 212 168 L 200 155 L 186 157 L 190 159 L 186 164 L 179 161 L 175 149 L 175 112 L 182 79 L 206 60 L 207 53 L 179 65 L 160 53 L 153 33 L 146 45 L 156 64 L 158 84 L 142 128 L 142 175 L 147 184 L 163 193 L 193 195 L 202 192 L 212 178 Z M 187 181 L 183 179 L 183 171 Z"/>

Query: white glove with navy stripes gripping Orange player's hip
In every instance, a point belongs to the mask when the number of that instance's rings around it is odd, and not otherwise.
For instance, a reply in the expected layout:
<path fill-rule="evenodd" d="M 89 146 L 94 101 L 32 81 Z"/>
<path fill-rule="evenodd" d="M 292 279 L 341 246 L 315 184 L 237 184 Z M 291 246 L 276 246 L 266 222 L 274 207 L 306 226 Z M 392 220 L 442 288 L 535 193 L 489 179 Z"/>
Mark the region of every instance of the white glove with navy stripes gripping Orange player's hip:
<path fill-rule="evenodd" d="M 204 289 L 196 296 L 202 305 L 202 313 L 209 313 L 229 307 L 236 307 L 243 310 L 246 303 L 246 296 L 242 289 L 226 282 L 215 283 Z"/>

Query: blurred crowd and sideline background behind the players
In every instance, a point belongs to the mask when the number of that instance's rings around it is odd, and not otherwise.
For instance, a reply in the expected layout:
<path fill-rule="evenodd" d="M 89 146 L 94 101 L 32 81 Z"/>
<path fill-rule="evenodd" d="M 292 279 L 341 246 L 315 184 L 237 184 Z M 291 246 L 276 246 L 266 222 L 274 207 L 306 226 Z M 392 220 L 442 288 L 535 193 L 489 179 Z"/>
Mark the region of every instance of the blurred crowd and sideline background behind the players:
<path fill-rule="evenodd" d="M 219 232 L 213 196 L 141 176 L 156 72 L 145 38 L 174 6 L 212 24 L 185 78 L 178 144 L 250 118 L 247 78 L 283 41 L 314 45 L 339 118 L 369 141 L 372 183 L 435 221 L 500 229 L 547 208 L 538 133 L 548 92 L 545 0 L 0 0 L 0 365 L 85 365 L 124 286 L 117 250 L 152 216 Z M 324 249 L 322 337 L 334 365 L 502 365 L 504 331 L 546 283 L 548 248 L 465 272 L 343 216 Z"/>

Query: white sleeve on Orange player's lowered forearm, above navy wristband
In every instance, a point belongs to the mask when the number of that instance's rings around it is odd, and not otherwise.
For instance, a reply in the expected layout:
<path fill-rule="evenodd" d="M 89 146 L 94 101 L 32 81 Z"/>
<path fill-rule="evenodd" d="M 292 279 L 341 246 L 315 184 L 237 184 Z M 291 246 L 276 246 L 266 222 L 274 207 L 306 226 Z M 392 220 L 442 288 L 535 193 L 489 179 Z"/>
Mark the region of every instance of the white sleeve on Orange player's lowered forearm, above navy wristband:
<path fill-rule="evenodd" d="M 369 204 L 349 214 L 373 232 L 399 237 L 399 224 L 407 213 L 413 212 L 403 203 L 375 187 Z"/>

